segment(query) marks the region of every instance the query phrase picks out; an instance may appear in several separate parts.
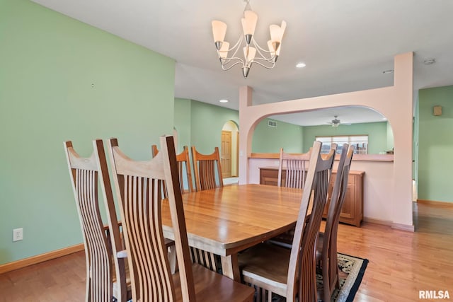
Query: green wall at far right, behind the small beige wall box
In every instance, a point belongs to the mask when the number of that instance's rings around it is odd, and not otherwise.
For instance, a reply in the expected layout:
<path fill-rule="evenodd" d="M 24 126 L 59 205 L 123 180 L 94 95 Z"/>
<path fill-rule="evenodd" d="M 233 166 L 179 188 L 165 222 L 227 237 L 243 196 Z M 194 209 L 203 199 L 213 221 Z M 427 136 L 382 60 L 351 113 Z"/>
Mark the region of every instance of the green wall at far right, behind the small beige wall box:
<path fill-rule="evenodd" d="M 418 122 L 418 199 L 453 202 L 453 86 L 419 91 Z"/>

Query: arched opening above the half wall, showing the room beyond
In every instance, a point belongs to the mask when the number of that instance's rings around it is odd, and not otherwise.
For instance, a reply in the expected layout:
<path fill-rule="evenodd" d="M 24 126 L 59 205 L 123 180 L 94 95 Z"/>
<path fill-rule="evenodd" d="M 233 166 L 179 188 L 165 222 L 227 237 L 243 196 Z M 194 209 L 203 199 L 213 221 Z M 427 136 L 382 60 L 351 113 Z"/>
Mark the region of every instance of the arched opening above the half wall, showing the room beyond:
<path fill-rule="evenodd" d="M 253 131 L 253 153 L 305 153 L 313 141 L 350 144 L 355 153 L 391 154 L 394 136 L 387 118 L 364 106 L 342 106 L 270 115 Z"/>

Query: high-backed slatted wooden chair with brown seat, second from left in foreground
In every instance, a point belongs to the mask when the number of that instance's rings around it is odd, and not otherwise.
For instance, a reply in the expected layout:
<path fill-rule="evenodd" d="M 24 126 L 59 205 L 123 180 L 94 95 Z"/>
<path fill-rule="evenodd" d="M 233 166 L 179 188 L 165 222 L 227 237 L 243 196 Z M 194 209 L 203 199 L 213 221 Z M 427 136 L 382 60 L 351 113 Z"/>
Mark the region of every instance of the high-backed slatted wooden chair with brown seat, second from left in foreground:
<path fill-rule="evenodd" d="M 253 289 L 190 262 L 182 192 L 173 137 L 161 137 L 161 151 L 149 161 L 133 161 L 109 140 L 109 155 L 125 228 L 132 300 L 252 301 Z M 162 183 L 166 184 L 164 198 Z M 178 272 L 166 257 L 162 209 L 171 214 Z"/>

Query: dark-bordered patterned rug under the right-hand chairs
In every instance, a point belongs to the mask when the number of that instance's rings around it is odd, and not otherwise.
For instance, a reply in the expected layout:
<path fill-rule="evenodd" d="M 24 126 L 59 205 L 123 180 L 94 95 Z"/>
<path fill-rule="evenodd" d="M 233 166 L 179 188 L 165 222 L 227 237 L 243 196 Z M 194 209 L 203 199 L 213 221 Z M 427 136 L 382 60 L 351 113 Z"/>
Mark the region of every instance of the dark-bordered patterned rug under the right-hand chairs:
<path fill-rule="evenodd" d="M 332 294 L 332 302 L 352 302 L 362 282 L 368 260 L 338 253 L 338 267 L 340 268 L 340 289 Z M 323 277 L 316 274 L 319 287 L 323 286 Z M 273 302 L 284 302 L 285 298 L 273 296 Z"/>

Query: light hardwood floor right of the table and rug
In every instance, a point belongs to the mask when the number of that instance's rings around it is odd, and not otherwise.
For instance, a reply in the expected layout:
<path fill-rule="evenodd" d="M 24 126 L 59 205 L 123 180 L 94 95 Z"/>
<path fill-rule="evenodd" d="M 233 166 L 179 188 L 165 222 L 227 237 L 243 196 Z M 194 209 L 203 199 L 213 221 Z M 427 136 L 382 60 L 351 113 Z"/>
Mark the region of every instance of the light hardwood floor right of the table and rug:
<path fill-rule="evenodd" d="M 338 251 L 367 258 L 355 301 L 418 301 L 418 291 L 453 298 L 453 204 L 414 204 L 415 233 L 363 223 L 341 225 Z"/>

